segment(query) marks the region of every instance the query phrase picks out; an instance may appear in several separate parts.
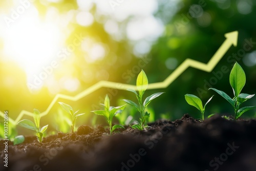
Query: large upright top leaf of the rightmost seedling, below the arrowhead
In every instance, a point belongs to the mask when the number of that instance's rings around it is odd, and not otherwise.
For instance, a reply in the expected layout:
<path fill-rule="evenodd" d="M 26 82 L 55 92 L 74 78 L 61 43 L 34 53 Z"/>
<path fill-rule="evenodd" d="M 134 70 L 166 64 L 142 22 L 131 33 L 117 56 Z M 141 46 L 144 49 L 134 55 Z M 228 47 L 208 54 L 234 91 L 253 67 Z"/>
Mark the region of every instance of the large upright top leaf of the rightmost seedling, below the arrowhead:
<path fill-rule="evenodd" d="M 236 62 L 230 72 L 229 82 L 233 89 L 234 96 L 238 97 L 246 81 L 243 68 Z"/>

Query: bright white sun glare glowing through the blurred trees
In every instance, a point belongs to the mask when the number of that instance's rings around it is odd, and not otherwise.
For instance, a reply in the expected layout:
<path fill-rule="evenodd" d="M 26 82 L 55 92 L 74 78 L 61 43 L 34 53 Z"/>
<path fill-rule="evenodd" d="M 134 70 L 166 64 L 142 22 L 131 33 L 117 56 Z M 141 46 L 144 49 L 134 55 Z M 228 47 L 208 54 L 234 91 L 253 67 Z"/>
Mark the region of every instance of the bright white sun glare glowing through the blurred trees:
<path fill-rule="evenodd" d="M 38 13 L 19 18 L 4 35 L 4 53 L 24 69 L 27 80 L 48 65 L 62 45 L 58 25 L 42 20 Z"/>

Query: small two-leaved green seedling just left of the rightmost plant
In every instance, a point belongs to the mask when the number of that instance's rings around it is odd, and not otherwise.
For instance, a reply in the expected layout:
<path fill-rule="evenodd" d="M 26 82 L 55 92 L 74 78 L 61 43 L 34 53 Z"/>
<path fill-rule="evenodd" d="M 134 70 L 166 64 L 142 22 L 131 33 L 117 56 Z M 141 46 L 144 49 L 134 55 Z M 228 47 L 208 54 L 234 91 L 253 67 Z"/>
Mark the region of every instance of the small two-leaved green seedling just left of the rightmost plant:
<path fill-rule="evenodd" d="M 204 120 L 205 106 L 212 99 L 212 97 L 214 97 L 214 96 L 211 96 L 211 98 L 209 98 L 209 100 L 205 103 L 205 105 L 203 107 L 202 100 L 199 97 L 197 97 L 193 94 L 186 94 L 185 95 L 185 99 L 186 99 L 187 103 L 196 107 L 201 112 L 202 120 Z"/>

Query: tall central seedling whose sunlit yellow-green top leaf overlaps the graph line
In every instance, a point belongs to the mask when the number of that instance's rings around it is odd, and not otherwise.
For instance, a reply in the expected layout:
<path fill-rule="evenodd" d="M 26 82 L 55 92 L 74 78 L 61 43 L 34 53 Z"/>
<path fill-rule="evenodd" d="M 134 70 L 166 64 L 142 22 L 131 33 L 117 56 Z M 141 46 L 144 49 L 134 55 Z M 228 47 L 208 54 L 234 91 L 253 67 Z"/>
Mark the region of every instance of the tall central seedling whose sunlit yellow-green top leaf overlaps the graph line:
<path fill-rule="evenodd" d="M 136 95 L 136 97 L 138 99 L 138 102 L 139 102 L 139 105 L 136 104 L 135 102 L 133 102 L 132 100 L 123 99 L 123 101 L 125 101 L 126 103 L 134 106 L 134 108 L 136 108 L 140 113 L 139 122 L 136 121 L 136 124 L 132 125 L 133 129 L 144 130 L 147 127 L 147 125 L 145 125 L 145 121 L 146 121 L 147 118 L 150 117 L 150 113 L 148 113 L 148 112 L 144 113 L 144 111 L 146 109 L 146 106 L 148 104 L 150 104 L 150 102 L 153 99 L 155 99 L 158 96 L 160 96 L 161 94 L 163 94 L 163 92 L 155 93 L 151 96 L 148 96 L 144 100 L 144 102 L 142 102 L 142 96 L 145 93 L 145 91 L 147 89 L 147 86 L 148 86 L 147 76 L 146 76 L 145 72 L 142 70 L 139 73 L 139 75 L 137 77 L 137 82 L 136 82 L 136 87 L 137 87 L 137 90 L 138 90 L 139 94 L 135 90 L 127 90 L 127 91 L 133 92 Z"/>

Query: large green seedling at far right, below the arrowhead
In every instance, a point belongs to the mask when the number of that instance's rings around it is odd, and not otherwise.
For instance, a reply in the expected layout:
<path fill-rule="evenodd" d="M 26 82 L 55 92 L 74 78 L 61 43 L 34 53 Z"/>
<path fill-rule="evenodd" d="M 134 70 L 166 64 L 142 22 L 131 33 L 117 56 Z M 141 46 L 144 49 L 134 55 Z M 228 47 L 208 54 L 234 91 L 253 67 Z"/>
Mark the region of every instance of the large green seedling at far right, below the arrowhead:
<path fill-rule="evenodd" d="M 234 120 L 237 120 L 242 114 L 245 112 L 255 108 L 255 106 L 246 106 L 244 108 L 240 108 L 241 104 L 245 102 L 246 100 L 252 98 L 253 95 L 241 93 L 243 87 L 245 86 L 246 82 L 246 76 L 244 73 L 243 68 L 236 62 L 230 72 L 229 75 L 229 82 L 233 90 L 234 97 L 229 97 L 226 93 L 223 91 L 210 88 L 211 90 L 214 90 L 219 95 L 221 95 L 224 99 L 226 99 L 234 109 Z M 240 94 L 241 93 L 241 94 Z"/>

